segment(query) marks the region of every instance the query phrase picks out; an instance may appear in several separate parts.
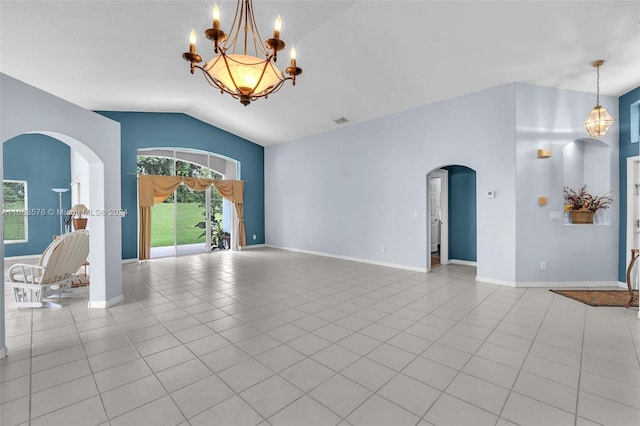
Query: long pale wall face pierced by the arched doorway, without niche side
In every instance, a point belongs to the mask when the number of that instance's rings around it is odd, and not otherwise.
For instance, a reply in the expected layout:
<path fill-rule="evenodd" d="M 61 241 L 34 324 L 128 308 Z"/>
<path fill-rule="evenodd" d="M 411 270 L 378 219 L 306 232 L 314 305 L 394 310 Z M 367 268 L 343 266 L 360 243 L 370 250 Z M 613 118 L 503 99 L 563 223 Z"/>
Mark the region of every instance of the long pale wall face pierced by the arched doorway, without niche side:
<path fill-rule="evenodd" d="M 426 270 L 426 175 L 459 164 L 477 172 L 478 276 L 515 281 L 514 99 L 506 85 L 267 147 L 267 244 Z"/>

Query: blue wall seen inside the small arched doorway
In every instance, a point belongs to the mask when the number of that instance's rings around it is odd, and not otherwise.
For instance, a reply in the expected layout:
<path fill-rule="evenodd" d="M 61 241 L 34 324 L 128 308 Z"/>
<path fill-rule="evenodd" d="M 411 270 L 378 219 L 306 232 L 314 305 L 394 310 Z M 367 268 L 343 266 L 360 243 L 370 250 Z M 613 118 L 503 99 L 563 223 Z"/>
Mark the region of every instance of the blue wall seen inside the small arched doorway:
<path fill-rule="evenodd" d="M 465 166 L 445 169 L 449 171 L 449 259 L 476 262 L 476 172 Z"/>

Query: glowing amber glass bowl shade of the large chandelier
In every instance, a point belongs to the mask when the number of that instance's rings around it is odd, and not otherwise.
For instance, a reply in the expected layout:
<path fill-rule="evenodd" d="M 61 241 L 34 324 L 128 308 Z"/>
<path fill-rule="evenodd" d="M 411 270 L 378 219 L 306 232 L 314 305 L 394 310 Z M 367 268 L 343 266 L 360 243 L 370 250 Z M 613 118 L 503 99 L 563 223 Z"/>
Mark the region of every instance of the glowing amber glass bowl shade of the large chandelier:
<path fill-rule="evenodd" d="M 263 96 L 285 79 L 271 61 L 240 54 L 219 54 L 207 63 L 205 71 L 226 92 L 239 96 Z"/>

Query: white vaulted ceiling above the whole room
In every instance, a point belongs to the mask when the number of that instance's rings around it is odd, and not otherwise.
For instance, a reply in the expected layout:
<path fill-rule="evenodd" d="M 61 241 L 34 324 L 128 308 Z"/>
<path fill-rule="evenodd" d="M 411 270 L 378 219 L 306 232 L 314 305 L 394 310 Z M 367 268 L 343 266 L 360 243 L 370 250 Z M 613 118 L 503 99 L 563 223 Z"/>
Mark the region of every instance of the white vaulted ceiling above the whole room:
<path fill-rule="evenodd" d="M 235 0 L 218 3 L 228 29 Z M 640 85 L 640 1 L 254 0 L 263 37 L 282 16 L 304 72 L 244 107 L 181 57 L 194 28 L 213 56 L 212 4 L 1 0 L 0 71 L 88 109 L 184 112 L 264 146 L 510 82 L 595 93 L 596 59 L 601 94 Z"/>

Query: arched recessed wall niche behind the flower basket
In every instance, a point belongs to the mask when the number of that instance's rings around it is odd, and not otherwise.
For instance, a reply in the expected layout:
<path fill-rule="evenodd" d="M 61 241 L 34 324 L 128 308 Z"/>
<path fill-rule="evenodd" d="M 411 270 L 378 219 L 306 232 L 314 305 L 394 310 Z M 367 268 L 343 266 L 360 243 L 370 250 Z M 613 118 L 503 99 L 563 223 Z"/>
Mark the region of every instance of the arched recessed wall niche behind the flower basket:
<path fill-rule="evenodd" d="M 562 147 L 563 185 L 578 191 L 587 185 L 587 192 L 602 195 L 611 191 L 611 147 L 594 138 L 581 138 Z M 593 223 L 609 225 L 611 209 L 596 212 Z"/>

